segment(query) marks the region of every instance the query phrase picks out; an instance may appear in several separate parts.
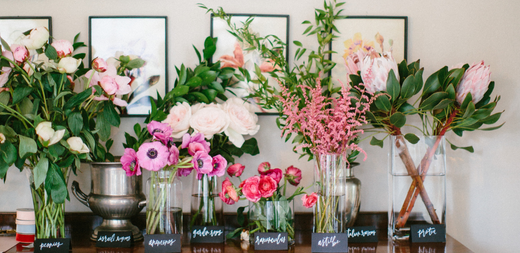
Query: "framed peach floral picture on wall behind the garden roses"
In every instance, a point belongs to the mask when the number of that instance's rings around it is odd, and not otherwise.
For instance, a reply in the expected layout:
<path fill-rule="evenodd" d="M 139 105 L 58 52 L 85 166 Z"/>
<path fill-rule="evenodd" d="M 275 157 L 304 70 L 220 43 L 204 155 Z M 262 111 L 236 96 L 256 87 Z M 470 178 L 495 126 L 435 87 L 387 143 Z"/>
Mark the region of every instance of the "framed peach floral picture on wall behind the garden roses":
<path fill-rule="evenodd" d="M 268 15 L 268 14 L 235 14 L 228 13 L 231 15 L 231 22 L 236 27 L 242 28 L 244 27 L 244 22 L 246 22 L 249 18 L 253 18 L 253 21 L 249 25 L 249 29 L 251 33 L 256 33 L 260 37 L 265 37 L 267 35 L 275 35 L 281 41 L 283 41 L 286 45 L 288 45 L 289 41 L 289 15 Z M 221 60 L 222 57 L 234 58 L 235 50 L 240 50 L 244 56 L 243 63 L 241 63 L 242 68 L 249 70 L 249 73 L 254 74 L 255 64 L 261 66 L 262 63 L 266 61 L 263 59 L 258 51 L 247 51 L 243 50 L 247 45 L 243 42 L 237 40 L 237 38 L 229 32 L 229 26 L 226 21 L 212 16 L 211 17 L 211 36 L 213 38 L 218 38 L 217 41 L 217 50 L 213 55 L 213 62 Z M 289 59 L 289 48 L 286 47 L 285 58 Z M 279 89 L 278 82 L 269 76 L 268 73 L 265 76 L 269 79 L 269 85 L 273 86 L 275 89 Z M 237 84 L 233 88 L 233 92 L 239 97 L 246 97 L 250 94 L 253 84 L 246 84 L 244 82 L 237 82 Z M 260 107 L 255 103 L 254 100 L 250 100 L 253 104 L 256 105 L 257 113 L 262 114 L 278 114 L 278 112 L 273 110 L 266 110 Z"/>

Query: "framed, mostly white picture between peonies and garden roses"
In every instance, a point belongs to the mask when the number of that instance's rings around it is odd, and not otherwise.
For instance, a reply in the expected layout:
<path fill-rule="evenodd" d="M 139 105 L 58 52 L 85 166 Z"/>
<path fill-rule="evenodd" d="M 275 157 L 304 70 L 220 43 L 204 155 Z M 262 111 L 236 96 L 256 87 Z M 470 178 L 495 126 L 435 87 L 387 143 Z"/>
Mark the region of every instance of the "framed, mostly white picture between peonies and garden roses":
<path fill-rule="evenodd" d="M 105 60 L 121 55 L 140 57 L 146 63 L 126 73 L 132 79 L 132 92 L 123 115 L 146 116 L 150 98 L 168 90 L 166 16 L 91 16 L 89 17 L 89 59 Z"/>

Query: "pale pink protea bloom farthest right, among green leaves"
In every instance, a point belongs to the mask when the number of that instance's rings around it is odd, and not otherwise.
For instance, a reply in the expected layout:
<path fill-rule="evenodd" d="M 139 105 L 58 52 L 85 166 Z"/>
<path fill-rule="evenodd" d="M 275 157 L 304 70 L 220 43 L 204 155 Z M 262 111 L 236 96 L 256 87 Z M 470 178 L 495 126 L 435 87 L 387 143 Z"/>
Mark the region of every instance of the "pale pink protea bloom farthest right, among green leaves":
<path fill-rule="evenodd" d="M 473 103 L 478 103 L 484 97 L 490 82 L 489 65 L 484 65 L 484 61 L 474 63 L 466 70 L 457 86 L 457 103 L 462 104 L 468 93 L 471 93 Z"/>

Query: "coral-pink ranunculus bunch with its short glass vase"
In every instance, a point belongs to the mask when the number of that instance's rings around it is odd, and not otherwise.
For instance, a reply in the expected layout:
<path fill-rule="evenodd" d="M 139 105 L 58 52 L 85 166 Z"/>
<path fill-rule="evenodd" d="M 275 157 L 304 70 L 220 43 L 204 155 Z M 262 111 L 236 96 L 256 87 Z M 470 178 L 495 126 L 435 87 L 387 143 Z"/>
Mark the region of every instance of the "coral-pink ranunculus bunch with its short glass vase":
<path fill-rule="evenodd" d="M 305 195 L 304 188 L 298 186 L 302 179 L 300 169 L 289 166 L 285 172 L 279 168 L 271 168 L 269 162 L 263 162 L 258 166 L 257 176 L 249 177 L 242 181 L 241 175 L 245 166 L 242 164 L 231 165 L 227 173 L 231 177 L 237 177 L 240 180 L 238 187 L 226 178 L 222 182 L 222 191 L 219 193 L 220 198 L 228 205 L 238 202 L 240 199 L 250 201 L 249 205 L 249 233 L 255 232 L 287 232 L 289 240 L 294 240 L 294 213 L 292 210 L 292 200 L 304 194 L 304 206 L 310 208 L 315 201 L 308 199 Z M 282 183 L 283 179 L 283 183 Z M 297 186 L 294 193 L 287 196 L 287 184 Z M 313 193 L 311 196 L 315 196 Z M 237 210 L 238 221 L 244 224 L 245 218 L 243 212 L 246 207 L 240 207 Z M 228 238 L 237 236 L 243 228 L 238 228 L 234 232 L 228 234 Z"/>

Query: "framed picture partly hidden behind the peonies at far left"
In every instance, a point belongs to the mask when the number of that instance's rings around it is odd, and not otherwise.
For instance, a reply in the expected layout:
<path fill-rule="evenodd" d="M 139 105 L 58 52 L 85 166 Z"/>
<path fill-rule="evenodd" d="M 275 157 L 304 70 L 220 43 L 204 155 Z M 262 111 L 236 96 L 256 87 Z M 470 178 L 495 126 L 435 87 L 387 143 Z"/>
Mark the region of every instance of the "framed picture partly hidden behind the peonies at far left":
<path fill-rule="evenodd" d="M 9 45 L 18 44 L 24 32 L 41 26 L 52 35 L 51 17 L 0 17 L 0 36 Z"/>

